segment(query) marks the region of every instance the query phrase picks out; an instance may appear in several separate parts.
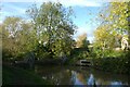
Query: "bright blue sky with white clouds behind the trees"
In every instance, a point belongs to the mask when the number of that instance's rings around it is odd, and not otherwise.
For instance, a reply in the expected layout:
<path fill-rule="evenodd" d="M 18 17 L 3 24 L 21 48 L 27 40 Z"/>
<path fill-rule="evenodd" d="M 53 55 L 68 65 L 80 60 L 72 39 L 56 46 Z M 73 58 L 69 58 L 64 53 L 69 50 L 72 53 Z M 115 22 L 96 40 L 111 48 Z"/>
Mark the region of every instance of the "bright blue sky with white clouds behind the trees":
<path fill-rule="evenodd" d="M 34 2 L 40 5 L 47 1 L 60 1 L 65 8 L 72 7 L 76 16 L 73 17 L 73 21 L 78 27 L 74 38 L 77 39 L 79 35 L 87 33 L 88 40 L 90 40 L 90 42 L 93 41 L 93 32 L 98 27 L 95 18 L 104 4 L 95 0 L 3 0 L 3 2 L 0 3 L 0 23 L 2 23 L 6 16 L 20 16 L 24 20 L 29 20 L 25 11 L 31 7 Z"/>

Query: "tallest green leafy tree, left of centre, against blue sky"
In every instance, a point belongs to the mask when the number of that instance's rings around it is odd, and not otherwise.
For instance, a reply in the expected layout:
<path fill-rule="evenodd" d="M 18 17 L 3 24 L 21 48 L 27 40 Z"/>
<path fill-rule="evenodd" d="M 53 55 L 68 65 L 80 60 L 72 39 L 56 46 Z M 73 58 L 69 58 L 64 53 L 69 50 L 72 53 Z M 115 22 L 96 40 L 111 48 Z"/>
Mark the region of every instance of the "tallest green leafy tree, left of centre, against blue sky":
<path fill-rule="evenodd" d="M 32 5 L 27 13 L 47 51 L 56 57 L 69 55 L 76 28 L 72 21 L 72 9 L 65 9 L 60 2 L 43 2 L 40 8 Z"/>

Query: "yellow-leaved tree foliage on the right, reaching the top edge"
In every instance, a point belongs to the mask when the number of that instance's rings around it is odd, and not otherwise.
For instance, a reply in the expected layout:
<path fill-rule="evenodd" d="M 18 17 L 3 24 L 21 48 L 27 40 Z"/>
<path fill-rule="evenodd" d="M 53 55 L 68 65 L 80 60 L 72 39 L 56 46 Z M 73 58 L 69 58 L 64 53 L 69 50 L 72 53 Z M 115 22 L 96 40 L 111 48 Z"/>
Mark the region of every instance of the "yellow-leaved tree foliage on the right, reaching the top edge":
<path fill-rule="evenodd" d="M 109 2 L 99 13 L 100 26 L 94 32 L 94 47 L 103 51 L 121 46 L 121 38 L 130 33 L 129 2 Z"/>

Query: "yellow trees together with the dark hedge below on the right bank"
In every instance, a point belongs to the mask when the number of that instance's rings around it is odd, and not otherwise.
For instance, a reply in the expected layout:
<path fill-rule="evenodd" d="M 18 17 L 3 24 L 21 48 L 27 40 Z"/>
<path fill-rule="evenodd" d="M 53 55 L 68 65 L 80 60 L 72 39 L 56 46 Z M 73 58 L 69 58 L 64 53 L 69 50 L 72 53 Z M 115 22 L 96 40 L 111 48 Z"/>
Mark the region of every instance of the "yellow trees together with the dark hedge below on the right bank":
<path fill-rule="evenodd" d="M 130 74 L 130 50 L 122 49 L 122 38 L 130 44 L 130 2 L 110 2 L 100 15 L 101 25 L 94 32 L 93 65 L 103 71 Z"/>

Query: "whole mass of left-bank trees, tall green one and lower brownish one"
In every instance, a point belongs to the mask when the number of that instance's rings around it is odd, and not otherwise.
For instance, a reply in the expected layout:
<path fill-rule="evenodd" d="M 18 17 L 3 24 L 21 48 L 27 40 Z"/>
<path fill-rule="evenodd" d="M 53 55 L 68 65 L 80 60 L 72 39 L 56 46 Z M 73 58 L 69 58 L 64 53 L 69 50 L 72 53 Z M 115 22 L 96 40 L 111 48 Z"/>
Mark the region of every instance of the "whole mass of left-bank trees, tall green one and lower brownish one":
<path fill-rule="evenodd" d="M 76 28 L 70 8 L 44 2 L 40 8 L 32 5 L 27 13 L 32 18 L 31 22 L 9 16 L 0 25 L 3 60 L 21 60 L 31 51 L 41 60 L 70 54 L 75 46 L 73 35 Z"/>

